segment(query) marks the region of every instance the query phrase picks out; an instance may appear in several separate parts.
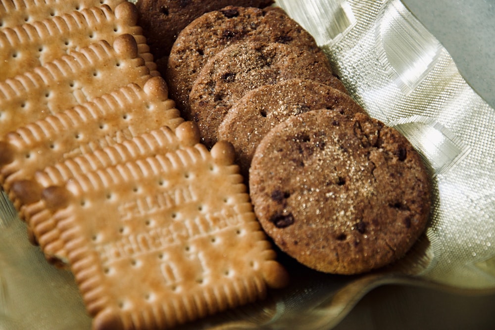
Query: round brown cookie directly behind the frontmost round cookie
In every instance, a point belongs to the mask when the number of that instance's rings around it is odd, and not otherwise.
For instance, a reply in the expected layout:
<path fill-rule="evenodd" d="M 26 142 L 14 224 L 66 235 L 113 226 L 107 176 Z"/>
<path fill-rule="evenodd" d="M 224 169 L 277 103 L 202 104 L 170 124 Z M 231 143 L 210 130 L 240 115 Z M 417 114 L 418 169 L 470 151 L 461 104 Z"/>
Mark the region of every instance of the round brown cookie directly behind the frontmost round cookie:
<path fill-rule="evenodd" d="M 364 110 L 347 94 L 313 80 L 290 79 L 247 92 L 228 111 L 218 128 L 218 140 L 231 142 L 236 163 L 247 177 L 261 139 L 290 116 L 317 109 L 346 115 Z"/>

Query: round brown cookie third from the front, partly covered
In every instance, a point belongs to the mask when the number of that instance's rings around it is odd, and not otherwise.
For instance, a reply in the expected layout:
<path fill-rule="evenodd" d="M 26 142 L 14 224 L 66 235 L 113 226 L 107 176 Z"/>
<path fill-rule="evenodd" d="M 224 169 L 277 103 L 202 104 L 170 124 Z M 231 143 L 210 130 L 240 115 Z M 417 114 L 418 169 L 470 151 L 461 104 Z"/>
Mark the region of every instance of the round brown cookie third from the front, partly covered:
<path fill-rule="evenodd" d="M 345 90 L 311 51 L 280 43 L 236 43 L 211 57 L 201 69 L 189 96 L 190 111 L 183 115 L 198 123 L 202 141 L 211 146 L 223 118 L 244 94 L 293 78 Z"/>

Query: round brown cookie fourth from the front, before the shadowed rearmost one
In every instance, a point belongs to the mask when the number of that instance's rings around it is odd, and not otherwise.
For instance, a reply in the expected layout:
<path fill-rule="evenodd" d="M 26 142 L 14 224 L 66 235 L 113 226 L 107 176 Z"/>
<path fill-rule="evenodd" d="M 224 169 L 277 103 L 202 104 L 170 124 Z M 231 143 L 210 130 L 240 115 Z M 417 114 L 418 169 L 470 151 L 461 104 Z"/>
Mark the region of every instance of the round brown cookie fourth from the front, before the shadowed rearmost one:
<path fill-rule="evenodd" d="M 182 30 L 170 51 L 165 77 L 179 110 L 187 109 L 193 84 L 208 59 L 240 41 L 293 45 L 329 65 L 313 37 L 282 9 L 228 6 L 194 20 Z"/>

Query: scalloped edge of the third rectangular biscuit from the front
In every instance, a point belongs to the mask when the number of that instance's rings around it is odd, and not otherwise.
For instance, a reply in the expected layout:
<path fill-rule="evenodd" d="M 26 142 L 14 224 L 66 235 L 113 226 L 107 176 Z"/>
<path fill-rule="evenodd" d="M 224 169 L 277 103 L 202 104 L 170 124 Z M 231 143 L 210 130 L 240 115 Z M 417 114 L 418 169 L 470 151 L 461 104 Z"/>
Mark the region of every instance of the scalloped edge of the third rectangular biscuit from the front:
<path fill-rule="evenodd" d="M 161 116 L 163 120 L 168 118 L 168 125 L 171 128 L 175 129 L 184 122 L 180 117 L 179 111 L 174 107 L 175 102 L 168 98 L 165 81 L 161 77 L 152 77 L 144 84 L 142 90 L 138 85 L 131 83 L 110 94 L 95 98 L 91 102 L 30 123 L 15 132 L 7 134 L 5 140 L 0 141 L 0 153 L 3 155 L 0 159 L 0 182 L 15 208 L 21 211 L 21 218 L 23 217 L 22 205 L 28 205 L 39 200 L 41 195 L 40 186 L 33 181 L 32 177 L 23 178 L 22 180 L 16 178 L 19 176 L 18 172 L 23 169 L 19 168 L 19 164 L 16 161 L 19 159 L 18 157 L 22 158 L 22 152 L 29 153 L 33 145 L 38 145 L 40 141 L 47 141 L 49 137 L 56 143 L 56 132 L 66 131 L 66 127 L 73 127 L 76 123 L 81 125 L 80 123 L 96 122 L 99 116 L 105 115 L 103 107 L 119 109 L 123 106 L 125 107 L 133 99 L 145 101 L 143 94 L 149 97 L 150 102 L 152 101 L 151 103 L 159 106 L 159 109 L 153 110 L 160 112 L 156 113 L 155 116 Z M 187 132 L 186 130 L 182 134 L 188 136 Z M 189 133 L 188 137 L 191 138 L 194 135 L 195 133 L 192 132 Z M 50 150 L 47 149 L 47 151 Z"/>

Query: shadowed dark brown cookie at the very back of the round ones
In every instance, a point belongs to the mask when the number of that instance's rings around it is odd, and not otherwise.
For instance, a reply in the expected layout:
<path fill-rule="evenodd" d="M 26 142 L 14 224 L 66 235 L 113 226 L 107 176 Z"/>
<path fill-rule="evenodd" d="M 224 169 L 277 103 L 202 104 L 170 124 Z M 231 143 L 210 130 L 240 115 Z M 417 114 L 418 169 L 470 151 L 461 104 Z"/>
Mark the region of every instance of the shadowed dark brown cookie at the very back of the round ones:
<path fill-rule="evenodd" d="M 155 61 L 165 60 L 179 32 L 202 14 L 232 4 L 232 0 L 139 0 L 139 25 L 143 27 Z M 238 0 L 238 6 L 264 8 L 273 0 Z M 162 75 L 165 71 L 161 72 Z"/>

